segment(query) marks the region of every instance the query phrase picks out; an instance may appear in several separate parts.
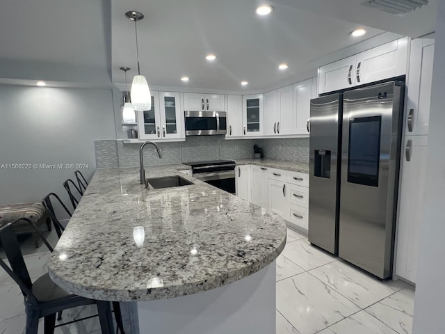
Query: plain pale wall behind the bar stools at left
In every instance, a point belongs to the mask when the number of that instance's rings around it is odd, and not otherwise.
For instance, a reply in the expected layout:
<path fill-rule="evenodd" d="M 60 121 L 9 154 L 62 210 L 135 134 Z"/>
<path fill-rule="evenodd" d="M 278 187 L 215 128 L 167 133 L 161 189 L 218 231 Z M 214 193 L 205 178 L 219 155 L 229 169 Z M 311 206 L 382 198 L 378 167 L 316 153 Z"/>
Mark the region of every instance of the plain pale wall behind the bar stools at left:
<path fill-rule="evenodd" d="M 2 164 L 88 164 L 95 171 L 94 141 L 115 139 L 111 89 L 0 85 L 0 205 L 34 202 L 54 191 L 75 169 L 11 170 Z"/>

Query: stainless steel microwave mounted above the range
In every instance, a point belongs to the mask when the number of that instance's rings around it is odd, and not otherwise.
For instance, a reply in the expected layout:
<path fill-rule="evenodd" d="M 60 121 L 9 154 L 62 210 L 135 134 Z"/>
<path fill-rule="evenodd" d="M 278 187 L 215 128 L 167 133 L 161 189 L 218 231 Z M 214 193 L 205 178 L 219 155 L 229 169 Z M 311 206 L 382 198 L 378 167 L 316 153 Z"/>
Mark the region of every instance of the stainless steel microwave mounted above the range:
<path fill-rule="evenodd" d="M 186 136 L 212 136 L 227 133 L 225 111 L 185 111 Z"/>

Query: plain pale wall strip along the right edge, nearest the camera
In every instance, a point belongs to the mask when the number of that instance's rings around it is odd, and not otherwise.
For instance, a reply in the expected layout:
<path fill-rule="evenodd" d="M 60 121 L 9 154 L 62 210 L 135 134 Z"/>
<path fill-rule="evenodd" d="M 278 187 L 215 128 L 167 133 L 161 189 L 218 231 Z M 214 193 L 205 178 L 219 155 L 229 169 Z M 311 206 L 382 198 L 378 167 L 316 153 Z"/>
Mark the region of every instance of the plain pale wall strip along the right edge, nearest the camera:
<path fill-rule="evenodd" d="M 445 333 L 445 0 L 439 0 L 414 334 Z"/>

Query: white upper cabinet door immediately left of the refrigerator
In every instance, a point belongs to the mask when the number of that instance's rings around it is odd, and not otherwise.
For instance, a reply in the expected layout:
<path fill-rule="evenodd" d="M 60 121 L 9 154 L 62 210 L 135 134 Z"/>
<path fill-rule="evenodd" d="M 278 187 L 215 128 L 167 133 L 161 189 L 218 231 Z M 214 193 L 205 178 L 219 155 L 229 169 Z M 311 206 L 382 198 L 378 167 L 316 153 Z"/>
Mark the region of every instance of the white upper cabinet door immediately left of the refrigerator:
<path fill-rule="evenodd" d="M 309 134 L 307 121 L 311 113 L 311 99 L 314 79 L 301 81 L 293 85 L 293 134 Z"/>

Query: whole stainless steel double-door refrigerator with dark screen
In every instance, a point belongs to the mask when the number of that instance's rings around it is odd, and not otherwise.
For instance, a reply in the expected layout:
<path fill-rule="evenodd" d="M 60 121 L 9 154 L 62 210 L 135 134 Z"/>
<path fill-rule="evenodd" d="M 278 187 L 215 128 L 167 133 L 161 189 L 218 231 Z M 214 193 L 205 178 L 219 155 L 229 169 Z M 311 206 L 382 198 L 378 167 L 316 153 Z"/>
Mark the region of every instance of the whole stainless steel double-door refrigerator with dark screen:
<path fill-rule="evenodd" d="M 309 241 L 391 277 L 403 81 L 311 101 Z"/>

